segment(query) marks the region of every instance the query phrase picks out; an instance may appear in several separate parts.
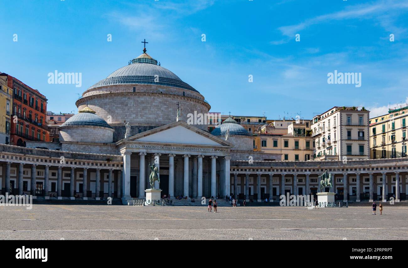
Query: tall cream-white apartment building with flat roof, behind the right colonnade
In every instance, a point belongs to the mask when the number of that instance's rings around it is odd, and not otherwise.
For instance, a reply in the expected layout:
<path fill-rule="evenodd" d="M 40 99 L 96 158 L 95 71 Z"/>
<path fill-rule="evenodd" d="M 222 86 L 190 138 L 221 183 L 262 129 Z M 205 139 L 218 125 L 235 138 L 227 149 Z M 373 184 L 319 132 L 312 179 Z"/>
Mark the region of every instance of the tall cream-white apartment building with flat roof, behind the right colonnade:
<path fill-rule="evenodd" d="M 315 160 L 370 158 L 369 111 L 335 106 L 312 119 Z"/>

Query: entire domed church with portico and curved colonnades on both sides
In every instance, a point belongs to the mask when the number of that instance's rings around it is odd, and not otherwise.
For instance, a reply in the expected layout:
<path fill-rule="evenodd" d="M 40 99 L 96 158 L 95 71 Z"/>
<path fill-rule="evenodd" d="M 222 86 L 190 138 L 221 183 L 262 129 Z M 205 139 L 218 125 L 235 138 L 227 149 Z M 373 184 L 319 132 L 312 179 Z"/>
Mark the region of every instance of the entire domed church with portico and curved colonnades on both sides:
<path fill-rule="evenodd" d="M 317 193 L 325 170 L 340 199 L 400 200 L 408 192 L 406 158 L 281 161 L 280 154 L 254 151 L 253 136 L 232 118 L 211 133 L 206 121 L 190 123 L 188 114 L 207 114 L 210 104 L 146 49 L 88 88 L 76 105 L 78 114 L 59 127 L 58 143 L 0 145 L 3 193 L 127 204 L 145 198 L 153 164 L 162 195 L 171 198 L 276 201 L 284 193 Z"/>

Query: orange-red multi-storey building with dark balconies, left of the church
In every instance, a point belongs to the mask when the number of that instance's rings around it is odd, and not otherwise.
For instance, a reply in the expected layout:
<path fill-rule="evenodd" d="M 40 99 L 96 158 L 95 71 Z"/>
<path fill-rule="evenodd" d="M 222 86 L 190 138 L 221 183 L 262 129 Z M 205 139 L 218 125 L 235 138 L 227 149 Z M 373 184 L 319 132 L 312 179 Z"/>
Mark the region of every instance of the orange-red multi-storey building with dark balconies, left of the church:
<path fill-rule="evenodd" d="M 22 81 L 7 76 L 7 86 L 13 89 L 10 144 L 25 146 L 26 141 L 49 142 L 47 98 Z"/>

